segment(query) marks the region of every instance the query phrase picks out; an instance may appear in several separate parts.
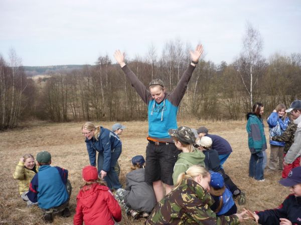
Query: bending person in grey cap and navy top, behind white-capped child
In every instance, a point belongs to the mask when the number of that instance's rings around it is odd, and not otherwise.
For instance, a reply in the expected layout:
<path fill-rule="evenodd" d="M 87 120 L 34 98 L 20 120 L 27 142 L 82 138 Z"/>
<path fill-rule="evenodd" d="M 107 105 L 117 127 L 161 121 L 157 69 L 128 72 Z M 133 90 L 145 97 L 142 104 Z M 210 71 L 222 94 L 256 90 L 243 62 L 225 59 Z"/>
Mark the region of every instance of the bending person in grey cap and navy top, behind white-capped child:
<path fill-rule="evenodd" d="M 227 158 L 232 152 L 232 147 L 229 142 L 222 138 L 221 136 L 215 134 L 208 134 L 208 129 L 204 126 L 197 129 L 197 133 L 200 138 L 210 137 L 212 139 L 212 149 L 218 152 L 218 157 L 221 163 L 221 166 L 225 163 Z"/>

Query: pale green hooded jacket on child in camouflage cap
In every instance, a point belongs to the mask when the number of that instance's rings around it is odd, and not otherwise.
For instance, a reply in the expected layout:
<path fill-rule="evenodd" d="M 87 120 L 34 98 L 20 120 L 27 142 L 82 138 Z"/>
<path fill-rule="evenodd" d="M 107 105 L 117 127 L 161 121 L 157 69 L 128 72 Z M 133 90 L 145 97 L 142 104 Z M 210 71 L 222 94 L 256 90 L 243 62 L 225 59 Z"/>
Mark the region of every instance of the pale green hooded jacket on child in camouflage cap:
<path fill-rule="evenodd" d="M 178 160 L 174 166 L 173 180 L 174 184 L 177 183 L 180 173 L 186 172 L 186 170 L 192 165 L 202 165 L 205 167 L 205 155 L 202 151 L 199 151 L 193 147 L 192 152 L 182 152 L 178 155 Z"/>

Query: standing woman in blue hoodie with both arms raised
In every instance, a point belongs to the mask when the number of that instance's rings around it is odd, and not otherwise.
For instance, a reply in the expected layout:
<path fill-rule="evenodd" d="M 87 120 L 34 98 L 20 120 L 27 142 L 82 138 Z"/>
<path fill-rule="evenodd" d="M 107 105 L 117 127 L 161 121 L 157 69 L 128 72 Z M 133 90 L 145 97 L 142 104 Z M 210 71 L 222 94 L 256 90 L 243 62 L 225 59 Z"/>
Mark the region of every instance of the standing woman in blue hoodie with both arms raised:
<path fill-rule="evenodd" d="M 145 181 L 153 183 L 157 201 L 173 188 L 173 169 L 180 151 L 173 143 L 168 133 L 169 129 L 177 129 L 177 113 L 182 98 L 188 87 L 192 73 L 203 53 L 203 46 L 198 45 L 195 51 L 190 51 L 191 63 L 184 72 L 175 90 L 168 93 L 164 82 L 152 80 L 148 88 L 125 64 L 124 53 L 115 51 L 114 58 L 120 65 L 125 76 L 135 88 L 138 95 L 147 105 L 148 112 L 148 144 L 146 147 Z"/>

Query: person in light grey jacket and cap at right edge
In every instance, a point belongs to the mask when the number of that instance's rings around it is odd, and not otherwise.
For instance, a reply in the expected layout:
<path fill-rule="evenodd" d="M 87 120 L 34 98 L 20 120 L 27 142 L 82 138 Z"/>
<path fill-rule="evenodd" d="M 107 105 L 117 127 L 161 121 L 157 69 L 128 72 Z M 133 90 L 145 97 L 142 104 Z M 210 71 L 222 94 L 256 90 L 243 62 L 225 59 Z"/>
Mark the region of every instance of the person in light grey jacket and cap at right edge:
<path fill-rule="evenodd" d="M 285 110 L 285 112 L 290 112 L 291 116 L 294 118 L 293 123 L 297 125 L 296 132 L 294 134 L 293 144 L 288 149 L 284 157 L 284 165 L 294 164 L 300 165 L 300 155 L 301 155 L 301 100 L 295 100 L 290 104 L 290 107 Z"/>

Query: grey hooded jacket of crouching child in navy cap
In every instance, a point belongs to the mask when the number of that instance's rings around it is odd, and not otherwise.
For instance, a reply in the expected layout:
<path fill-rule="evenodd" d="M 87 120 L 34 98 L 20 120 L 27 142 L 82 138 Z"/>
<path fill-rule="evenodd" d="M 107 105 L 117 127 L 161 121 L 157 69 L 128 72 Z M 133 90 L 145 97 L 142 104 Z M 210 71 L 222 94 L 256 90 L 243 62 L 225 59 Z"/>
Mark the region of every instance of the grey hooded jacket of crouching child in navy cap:
<path fill-rule="evenodd" d="M 126 174 L 124 202 L 136 211 L 151 212 L 156 204 L 153 186 L 144 181 L 144 168 Z"/>

